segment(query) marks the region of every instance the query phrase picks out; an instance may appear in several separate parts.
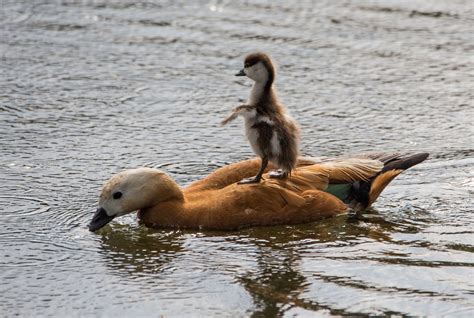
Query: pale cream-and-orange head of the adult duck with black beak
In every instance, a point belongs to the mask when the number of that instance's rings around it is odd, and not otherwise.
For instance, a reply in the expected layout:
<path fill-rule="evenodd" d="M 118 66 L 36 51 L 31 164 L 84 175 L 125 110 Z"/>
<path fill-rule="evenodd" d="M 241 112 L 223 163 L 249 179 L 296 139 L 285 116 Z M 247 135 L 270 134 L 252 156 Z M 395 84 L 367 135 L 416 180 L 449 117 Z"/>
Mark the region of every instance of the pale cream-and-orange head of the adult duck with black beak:
<path fill-rule="evenodd" d="M 181 200 L 183 193 L 164 172 L 152 168 L 125 170 L 104 184 L 89 230 L 97 231 L 118 216 L 175 198 Z"/>

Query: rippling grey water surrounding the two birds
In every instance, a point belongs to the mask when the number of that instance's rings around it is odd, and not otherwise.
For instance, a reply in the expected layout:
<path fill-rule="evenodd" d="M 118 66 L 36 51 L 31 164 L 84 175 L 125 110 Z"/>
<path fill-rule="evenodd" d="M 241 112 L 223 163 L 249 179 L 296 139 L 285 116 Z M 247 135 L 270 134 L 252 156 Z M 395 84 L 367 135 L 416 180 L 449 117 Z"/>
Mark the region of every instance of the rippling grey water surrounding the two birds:
<path fill-rule="evenodd" d="M 469 1 L 13 1 L 0 9 L 2 316 L 472 316 Z M 252 156 L 219 127 L 270 53 L 306 155 L 428 151 L 373 209 L 239 232 L 89 233 L 102 183 Z"/>

